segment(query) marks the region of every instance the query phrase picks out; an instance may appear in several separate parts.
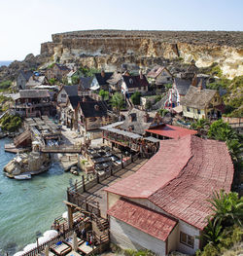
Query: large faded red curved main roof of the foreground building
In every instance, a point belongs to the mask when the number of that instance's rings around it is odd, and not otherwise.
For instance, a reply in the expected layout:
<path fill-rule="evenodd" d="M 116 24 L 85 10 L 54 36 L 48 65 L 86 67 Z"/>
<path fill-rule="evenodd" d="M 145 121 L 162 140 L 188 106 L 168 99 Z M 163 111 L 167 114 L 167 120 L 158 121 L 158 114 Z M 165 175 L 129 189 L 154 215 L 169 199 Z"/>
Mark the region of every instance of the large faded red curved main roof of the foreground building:
<path fill-rule="evenodd" d="M 196 136 L 163 140 L 136 173 L 107 188 L 126 198 L 147 198 L 168 214 L 202 230 L 213 191 L 230 191 L 233 165 L 225 142 Z"/>

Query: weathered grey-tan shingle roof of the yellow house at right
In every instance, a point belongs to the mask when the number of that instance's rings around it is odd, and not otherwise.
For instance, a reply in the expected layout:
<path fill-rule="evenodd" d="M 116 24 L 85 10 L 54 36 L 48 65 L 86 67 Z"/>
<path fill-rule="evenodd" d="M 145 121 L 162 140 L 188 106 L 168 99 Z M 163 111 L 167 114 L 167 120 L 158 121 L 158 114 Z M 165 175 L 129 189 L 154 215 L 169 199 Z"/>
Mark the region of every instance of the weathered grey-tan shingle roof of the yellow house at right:
<path fill-rule="evenodd" d="M 199 109 L 205 108 L 216 93 L 216 90 L 200 90 L 191 86 L 185 97 L 181 99 L 181 105 Z"/>

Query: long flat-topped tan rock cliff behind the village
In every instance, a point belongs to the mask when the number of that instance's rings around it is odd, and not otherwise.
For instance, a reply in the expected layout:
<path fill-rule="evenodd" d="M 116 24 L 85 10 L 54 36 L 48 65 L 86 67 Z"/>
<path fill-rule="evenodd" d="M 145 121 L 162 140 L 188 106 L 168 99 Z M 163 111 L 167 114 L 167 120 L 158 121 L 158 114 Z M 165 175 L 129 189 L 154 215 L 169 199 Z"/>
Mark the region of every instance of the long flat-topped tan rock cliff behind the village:
<path fill-rule="evenodd" d="M 52 35 L 41 55 L 114 70 L 121 63 L 148 67 L 165 59 L 193 58 L 198 67 L 218 62 L 228 78 L 243 74 L 243 32 L 90 30 Z"/>

